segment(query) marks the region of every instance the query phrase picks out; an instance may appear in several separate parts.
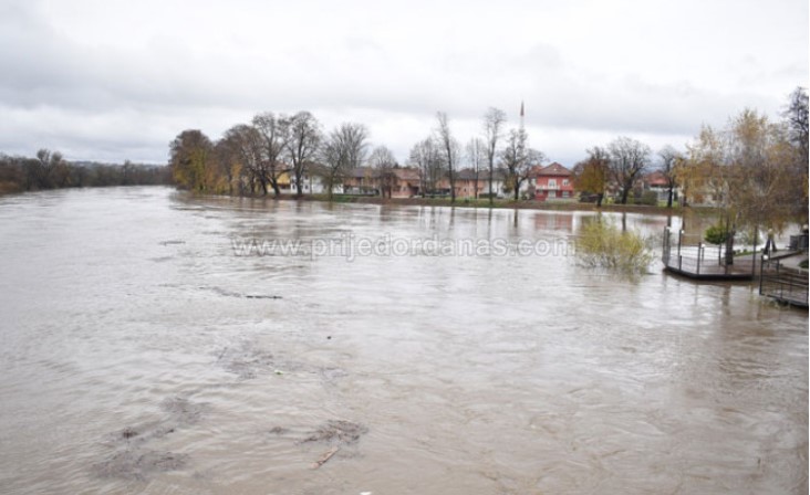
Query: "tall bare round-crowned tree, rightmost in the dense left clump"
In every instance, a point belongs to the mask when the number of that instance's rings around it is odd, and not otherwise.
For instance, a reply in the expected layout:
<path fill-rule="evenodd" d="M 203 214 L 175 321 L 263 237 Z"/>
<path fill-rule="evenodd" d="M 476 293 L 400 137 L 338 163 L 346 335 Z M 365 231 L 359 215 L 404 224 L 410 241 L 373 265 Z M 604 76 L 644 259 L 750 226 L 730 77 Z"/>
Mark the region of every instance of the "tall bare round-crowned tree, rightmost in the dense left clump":
<path fill-rule="evenodd" d="M 334 129 L 321 150 L 326 166 L 326 194 L 332 200 L 334 187 L 345 173 L 365 160 L 368 130 L 362 124 L 344 123 Z"/>

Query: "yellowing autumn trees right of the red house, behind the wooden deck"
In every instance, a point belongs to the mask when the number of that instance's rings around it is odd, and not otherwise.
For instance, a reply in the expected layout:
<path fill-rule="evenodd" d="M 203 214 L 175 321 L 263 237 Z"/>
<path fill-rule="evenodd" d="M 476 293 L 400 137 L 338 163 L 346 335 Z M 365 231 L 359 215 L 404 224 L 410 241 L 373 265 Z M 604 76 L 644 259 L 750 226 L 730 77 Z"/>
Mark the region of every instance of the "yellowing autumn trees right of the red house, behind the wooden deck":
<path fill-rule="evenodd" d="M 586 154 L 574 166 L 574 183 L 596 196 L 600 206 L 609 192 L 626 203 L 642 173 L 655 169 L 667 183 L 667 207 L 681 188 L 686 198 L 723 210 L 729 231 L 807 222 L 808 95 L 801 87 L 790 95 L 780 120 L 745 109 L 723 129 L 704 126 L 684 151 L 665 146 L 657 164 L 648 146 L 626 137 Z"/>

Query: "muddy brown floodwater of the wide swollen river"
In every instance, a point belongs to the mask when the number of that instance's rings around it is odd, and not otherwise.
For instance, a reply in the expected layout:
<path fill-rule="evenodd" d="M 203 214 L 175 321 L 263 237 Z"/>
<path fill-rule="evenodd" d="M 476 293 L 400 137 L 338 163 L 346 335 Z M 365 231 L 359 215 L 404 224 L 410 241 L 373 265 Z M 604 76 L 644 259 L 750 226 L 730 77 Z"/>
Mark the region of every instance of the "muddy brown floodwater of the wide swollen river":
<path fill-rule="evenodd" d="M 0 492 L 807 493 L 807 312 L 578 266 L 588 218 L 0 198 Z"/>

